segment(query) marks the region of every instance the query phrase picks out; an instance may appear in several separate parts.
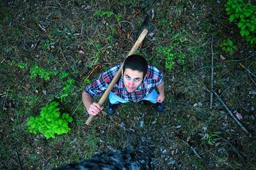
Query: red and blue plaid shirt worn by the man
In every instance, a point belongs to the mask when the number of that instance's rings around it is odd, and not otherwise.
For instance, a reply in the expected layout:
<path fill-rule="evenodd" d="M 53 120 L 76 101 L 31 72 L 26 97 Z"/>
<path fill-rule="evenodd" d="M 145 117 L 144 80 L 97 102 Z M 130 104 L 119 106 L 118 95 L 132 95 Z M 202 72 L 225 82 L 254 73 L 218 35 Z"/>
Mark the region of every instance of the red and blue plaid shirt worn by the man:
<path fill-rule="evenodd" d="M 100 96 L 100 94 L 102 94 L 108 88 L 108 85 L 111 83 L 111 80 L 113 80 L 121 65 L 122 64 L 118 64 L 117 66 L 112 67 L 108 71 L 100 74 L 98 79 L 93 80 L 91 85 L 84 89 L 84 92 L 87 92 L 92 97 Z M 134 92 L 127 92 L 124 87 L 124 78 L 122 76 L 118 79 L 111 92 L 116 94 L 116 96 L 121 97 L 122 99 L 136 102 L 148 96 L 148 94 L 154 90 L 154 87 L 160 85 L 163 80 L 163 73 L 156 67 L 148 65 L 145 79 Z"/>

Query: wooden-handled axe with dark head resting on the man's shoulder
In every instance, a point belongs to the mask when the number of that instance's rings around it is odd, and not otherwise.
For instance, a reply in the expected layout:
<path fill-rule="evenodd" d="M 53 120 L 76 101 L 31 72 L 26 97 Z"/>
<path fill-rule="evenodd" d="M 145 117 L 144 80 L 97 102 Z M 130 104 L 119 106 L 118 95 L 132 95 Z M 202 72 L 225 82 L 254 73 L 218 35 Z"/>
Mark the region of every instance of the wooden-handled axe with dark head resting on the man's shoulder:
<path fill-rule="evenodd" d="M 139 48 L 139 46 L 141 45 L 143 39 L 145 38 L 145 36 L 147 35 L 148 31 L 152 29 L 152 26 L 150 25 L 149 22 L 149 17 L 148 15 L 145 17 L 145 20 L 143 21 L 143 24 L 140 27 L 140 30 L 138 31 L 138 34 L 140 34 L 139 38 L 137 39 L 137 41 L 135 42 L 135 44 L 132 46 L 131 51 L 128 53 L 127 57 L 129 55 L 132 55 L 136 52 L 136 50 Z M 124 64 L 124 62 L 123 62 Z M 104 94 L 102 94 L 102 97 L 100 97 L 99 100 L 99 104 L 100 106 L 103 105 L 104 101 L 106 101 L 107 97 L 109 96 L 109 93 L 111 92 L 111 90 L 113 89 L 113 86 L 115 85 L 116 81 L 120 78 L 121 76 L 121 71 L 122 71 L 122 66 L 120 67 L 120 69 L 118 69 L 118 71 L 116 72 L 113 80 L 111 81 L 111 83 L 109 84 L 108 88 L 106 89 L 106 91 L 104 92 Z M 93 120 L 93 115 L 90 115 L 90 117 L 86 120 L 86 125 L 90 125 L 90 123 Z"/>

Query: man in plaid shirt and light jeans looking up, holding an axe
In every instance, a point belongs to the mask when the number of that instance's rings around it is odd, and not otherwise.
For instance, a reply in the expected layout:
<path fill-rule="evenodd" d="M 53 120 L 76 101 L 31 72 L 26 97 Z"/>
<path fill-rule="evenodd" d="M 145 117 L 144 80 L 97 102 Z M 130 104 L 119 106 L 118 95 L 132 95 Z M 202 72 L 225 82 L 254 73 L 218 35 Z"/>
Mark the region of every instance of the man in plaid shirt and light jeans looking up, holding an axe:
<path fill-rule="evenodd" d="M 120 66 L 122 64 L 100 74 L 97 80 L 92 81 L 92 84 L 84 89 L 82 99 L 89 115 L 97 115 L 103 109 L 99 103 L 93 103 L 93 97 L 99 96 L 108 88 Z M 154 87 L 157 87 L 159 94 Z M 112 115 L 115 112 L 118 103 L 143 100 L 154 103 L 158 111 L 163 111 L 163 73 L 156 67 L 148 65 L 147 60 L 140 55 L 130 55 L 124 61 L 122 76 L 109 94 L 108 114 Z"/>

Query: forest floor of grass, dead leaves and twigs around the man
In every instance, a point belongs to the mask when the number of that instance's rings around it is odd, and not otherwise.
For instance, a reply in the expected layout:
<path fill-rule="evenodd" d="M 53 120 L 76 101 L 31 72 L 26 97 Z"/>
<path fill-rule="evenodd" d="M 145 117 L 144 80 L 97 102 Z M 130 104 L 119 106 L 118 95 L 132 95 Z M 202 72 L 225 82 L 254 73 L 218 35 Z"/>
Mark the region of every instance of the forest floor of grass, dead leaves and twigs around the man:
<path fill-rule="evenodd" d="M 164 111 L 121 104 L 86 125 L 84 87 L 124 61 L 146 15 L 152 30 L 136 53 L 164 73 Z M 256 78 L 241 67 L 256 73 L 255 51 L 225 1 L 0 1 L 0 39 L 0 169 L 51 169 L 141 143 L 155 169 L 256 169 Z M 221 50 L 227 39 L 233 53 Z M 246 130 L 214 94 L 211 107 L 211 82 Z M 70 131 L 29 132 L 52 101 Z"/>

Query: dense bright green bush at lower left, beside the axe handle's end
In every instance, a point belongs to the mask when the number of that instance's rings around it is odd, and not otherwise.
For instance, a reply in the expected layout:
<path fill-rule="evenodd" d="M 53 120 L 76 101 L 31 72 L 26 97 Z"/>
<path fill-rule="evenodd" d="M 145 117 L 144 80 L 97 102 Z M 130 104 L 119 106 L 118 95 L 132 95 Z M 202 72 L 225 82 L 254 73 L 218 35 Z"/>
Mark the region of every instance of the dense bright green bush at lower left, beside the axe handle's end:
<path fill-rule="evenodd" d="M 46 139 L 55 138 L 56 134 L 67 134 L 70 131 L 68 122 L 72 122 L 72 117 L 68 113 L 60 113 L 57 108 L 59 103 L 51 102 L 40 111 L 40 116 L 30 117 L 27 125 L 29 132 L 44 134 Z"/>

